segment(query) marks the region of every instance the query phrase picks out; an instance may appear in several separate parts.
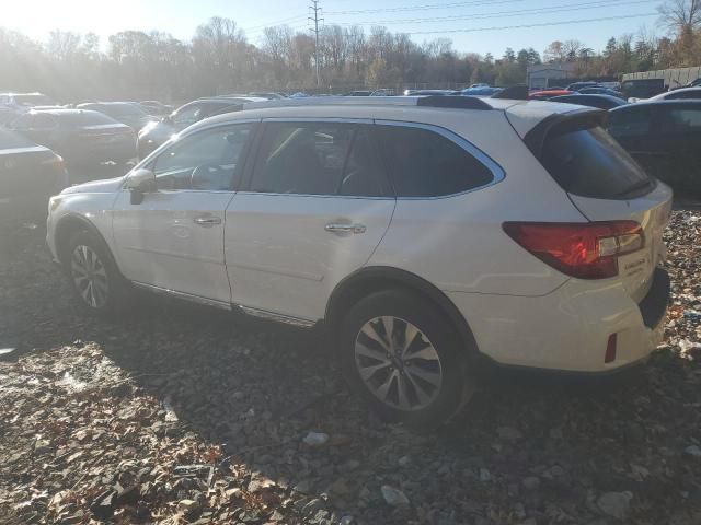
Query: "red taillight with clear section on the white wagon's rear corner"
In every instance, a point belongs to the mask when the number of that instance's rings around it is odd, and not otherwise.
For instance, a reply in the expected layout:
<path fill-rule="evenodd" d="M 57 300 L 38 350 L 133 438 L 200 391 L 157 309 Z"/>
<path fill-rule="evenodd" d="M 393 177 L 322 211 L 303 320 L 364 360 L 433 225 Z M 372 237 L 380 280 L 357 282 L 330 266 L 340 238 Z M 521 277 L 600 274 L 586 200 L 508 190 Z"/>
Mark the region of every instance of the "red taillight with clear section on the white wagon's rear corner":
<path fill-rule="evenodd" d="M 579 279 L 618 276 L 618 257 L 645 245 L 635 221 L 505 222 L 504 231 L 543 262 Z"/>

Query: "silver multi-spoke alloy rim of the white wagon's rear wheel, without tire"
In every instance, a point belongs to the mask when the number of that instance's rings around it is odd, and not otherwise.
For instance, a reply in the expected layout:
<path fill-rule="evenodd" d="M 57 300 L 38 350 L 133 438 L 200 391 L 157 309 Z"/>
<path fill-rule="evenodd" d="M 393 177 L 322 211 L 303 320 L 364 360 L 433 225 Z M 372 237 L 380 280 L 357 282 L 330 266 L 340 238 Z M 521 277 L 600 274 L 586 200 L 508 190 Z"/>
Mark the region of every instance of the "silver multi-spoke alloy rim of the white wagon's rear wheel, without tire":
<path fill-rule="evenodd" d="M 443 385 L 440 357 L 412 323 L 393 316 L 368 320 L 356 336 L 355 364 L 366 387 L 399 410 L 421 410 Z"/>

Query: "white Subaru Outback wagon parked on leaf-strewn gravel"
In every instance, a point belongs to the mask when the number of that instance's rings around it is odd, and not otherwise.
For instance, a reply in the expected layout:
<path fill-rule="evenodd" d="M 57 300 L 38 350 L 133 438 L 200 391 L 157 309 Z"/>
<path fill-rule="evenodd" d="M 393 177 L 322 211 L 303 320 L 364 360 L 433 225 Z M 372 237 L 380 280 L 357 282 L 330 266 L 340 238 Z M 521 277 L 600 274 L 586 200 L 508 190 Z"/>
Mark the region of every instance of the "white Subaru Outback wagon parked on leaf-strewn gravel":
<path fill-rule="evenodd" d="M 394 420 L 452 415 L 474 358 L 607 372 L 659 342 L 671 191 L 568 104 L 254 103 L 49 203 L 77 299 L 131 288 L 330 327 Z"/>

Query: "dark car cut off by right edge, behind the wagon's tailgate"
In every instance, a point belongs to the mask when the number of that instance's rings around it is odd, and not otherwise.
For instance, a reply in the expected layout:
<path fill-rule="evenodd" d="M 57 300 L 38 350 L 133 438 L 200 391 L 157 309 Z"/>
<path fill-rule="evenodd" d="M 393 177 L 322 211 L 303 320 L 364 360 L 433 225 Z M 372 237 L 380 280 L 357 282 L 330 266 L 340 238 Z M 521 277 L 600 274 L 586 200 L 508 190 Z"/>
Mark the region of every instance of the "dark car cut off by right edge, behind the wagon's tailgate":
<path fill-rule="evenodd" d="M 608 130 L 678 196 L 701 197 L 701 101 L 621 106 L 610 112 Z"/>

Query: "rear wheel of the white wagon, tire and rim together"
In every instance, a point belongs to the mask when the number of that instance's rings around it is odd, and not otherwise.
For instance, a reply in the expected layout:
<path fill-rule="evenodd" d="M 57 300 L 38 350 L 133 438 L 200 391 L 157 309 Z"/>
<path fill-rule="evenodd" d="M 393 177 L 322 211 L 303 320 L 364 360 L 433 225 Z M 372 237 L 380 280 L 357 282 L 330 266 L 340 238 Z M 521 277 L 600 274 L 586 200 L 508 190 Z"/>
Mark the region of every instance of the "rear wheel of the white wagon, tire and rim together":
<path fill-rule="evenodd" d="M 469 349 L 443 312 L 420 295 L 402 290 L 368 295 L 347 312 L 341 337 L 344 378 L 386 420 L 439 423 L 474 390 Z"/>

